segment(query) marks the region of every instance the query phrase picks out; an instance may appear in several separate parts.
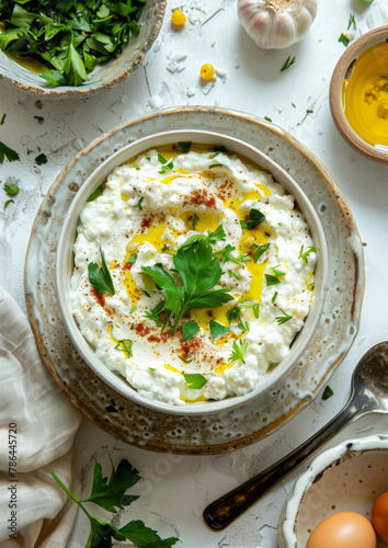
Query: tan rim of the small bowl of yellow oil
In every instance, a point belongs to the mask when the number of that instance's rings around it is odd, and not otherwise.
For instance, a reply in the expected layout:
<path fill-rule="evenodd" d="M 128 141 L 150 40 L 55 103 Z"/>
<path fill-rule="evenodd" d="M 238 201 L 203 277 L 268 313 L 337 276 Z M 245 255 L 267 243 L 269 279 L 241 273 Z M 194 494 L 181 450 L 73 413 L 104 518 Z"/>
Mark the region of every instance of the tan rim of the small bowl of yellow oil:
<path fill-rule="evenodd" d="M 388 163 L 388 147 L 386 152 L 379 150 L 354 132 L 343 111 L 342 83 L 351 64 L 366 49 L 384 41 L 388 41 L 388 25 L 374 28 L 351 44 L 334 68 L 329 93 L 331 115 L 343 139 L 358 153 L 379 163 Z"/>

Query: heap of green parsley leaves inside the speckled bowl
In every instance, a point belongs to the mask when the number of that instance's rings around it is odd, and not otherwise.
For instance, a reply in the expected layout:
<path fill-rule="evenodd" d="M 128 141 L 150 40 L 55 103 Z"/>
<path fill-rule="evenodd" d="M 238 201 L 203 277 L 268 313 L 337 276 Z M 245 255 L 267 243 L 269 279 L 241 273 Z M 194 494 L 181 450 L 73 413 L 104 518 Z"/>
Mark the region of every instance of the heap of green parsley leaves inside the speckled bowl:
<path fill-rule="evenodd" d="M 80 85 L 98 62 L 118 57 L 132 36 L 146 0 L 23 0 L 0 2 L 0 49 L 25 54 L 47 65 L 41 75 L 52 85 Z"/>

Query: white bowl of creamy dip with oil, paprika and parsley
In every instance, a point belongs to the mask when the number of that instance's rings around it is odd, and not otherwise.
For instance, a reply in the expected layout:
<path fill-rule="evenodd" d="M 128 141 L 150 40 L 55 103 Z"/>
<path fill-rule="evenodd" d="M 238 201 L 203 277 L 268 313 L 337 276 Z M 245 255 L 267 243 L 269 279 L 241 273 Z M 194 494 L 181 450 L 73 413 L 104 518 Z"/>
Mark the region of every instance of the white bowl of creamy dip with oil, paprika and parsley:
<path fill-rule="evenodd" d="M 95 282 L 107 271 L 111 289 Z M 179 130 L 132 142 L 85 181 L 56 284 L 75 346 L 107 385 L 204 414 L 258 397 L 298 361 L 327 271 L 319 218 L 285 170 L 244 141 Z"/>

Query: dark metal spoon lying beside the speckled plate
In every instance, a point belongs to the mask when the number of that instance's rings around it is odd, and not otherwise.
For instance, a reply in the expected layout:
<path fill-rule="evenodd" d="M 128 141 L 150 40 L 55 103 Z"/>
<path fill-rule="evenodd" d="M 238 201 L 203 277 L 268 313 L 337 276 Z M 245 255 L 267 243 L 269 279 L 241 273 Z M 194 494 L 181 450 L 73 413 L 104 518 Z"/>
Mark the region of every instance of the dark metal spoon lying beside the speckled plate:
<path fill-rule="evenodd" d="M 209 504 L 204 511 L 206 523 L 213 529 L 229 525 L 347 424 L 372 412 L 388 413 L 388 342 L 376 344 L 360 359 L 350 400 L 334 419 L 282 460 Z"/>

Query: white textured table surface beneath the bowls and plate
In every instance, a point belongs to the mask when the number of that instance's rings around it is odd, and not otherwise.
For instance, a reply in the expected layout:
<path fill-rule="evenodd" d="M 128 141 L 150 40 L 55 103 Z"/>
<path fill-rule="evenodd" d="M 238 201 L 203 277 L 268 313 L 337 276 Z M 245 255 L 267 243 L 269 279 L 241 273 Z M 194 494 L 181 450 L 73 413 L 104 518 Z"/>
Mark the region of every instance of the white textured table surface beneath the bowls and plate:
<path fill-rule="evenodd" d="M 0 87 L 0 117 L 5 113 L 0 140 L 21 157 L 20 162 L 0 167 L 2 183 L 15 183 L 21 189 L 5 210 L 2 204 L 7 196 L 0 190 L 0 282 L 23 308 L 23 262 L 31 226 L 56 175 L 101 133 L 157 109 L 206 104 L 271 117 L 320 158 L 353 212 L 365 242 L 365 299 L 356 341 L 330 380 L 334 390 L 330 400 L 323 402 L 319 395 L 265 441 L 213 457 L 146 453 L 116 442 L 87 419 L 82 423 L 76 443 L 81 478 L 90 479 L 95 457 L 105 464 L 109 454 L 127 458 L 145 481 L 137 490 L 140 499 L 126 516 L 155 525 L 164 536 L 175 534 L 187 548 L 276 546 L 279 511 L 298 471 L 224 532 L 207 528 L 203 509 L 283 457 L 331 419 L 349 398 L 350 377 L 358 358 L 388 338 L 388 167 L 360 157 L 341 139 L 328 100 L 330 77 L 344 50 L 338 37 L 346 30 L 350 13 L 357 21 L 356 35 L 363 34 L 388 24 L 388 0 L 372 4 L 360 0 L 321 1 L 317 20 L 304 41 L 287 50 L 272 52 L 259 49 L 248 37 L 238 21 L 236 4 L 236 0 L 168 0 L 163 27 L 145 62 L 127 81 L 89 100 L 39 101 L 3 83 Z M 184 28 L 174 32 L 170 15 L 178 7 L 190 16 Z M 296 62 L 281 73 L 288 55 L 295 56 Z M 174 72 L 168 70 L 174 68 L 171 61 L 178 64 Z M 204 62 L 214 65 L 219 75 L 209 90 L 199 81 Z M 307 114 L 307 110 L 313 113 Z M 38 147 L 48 157 L 41 167 L 34 162 L 36 155 L 27 153 L 27 149 L 37 151 Z M 374 432 L 388 433 L 386 418 L 363 419 L 333 443 Z M 70 548 L 84 546 L 88 526 L 87 518 L 79 515 Z"/>

